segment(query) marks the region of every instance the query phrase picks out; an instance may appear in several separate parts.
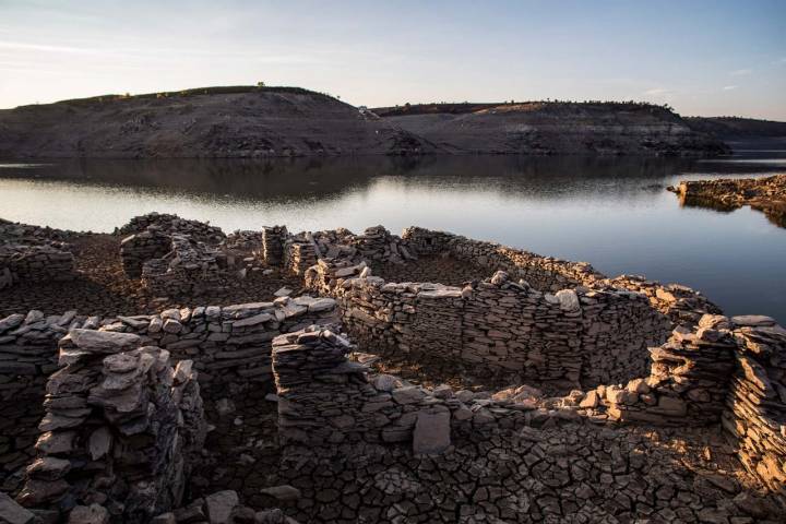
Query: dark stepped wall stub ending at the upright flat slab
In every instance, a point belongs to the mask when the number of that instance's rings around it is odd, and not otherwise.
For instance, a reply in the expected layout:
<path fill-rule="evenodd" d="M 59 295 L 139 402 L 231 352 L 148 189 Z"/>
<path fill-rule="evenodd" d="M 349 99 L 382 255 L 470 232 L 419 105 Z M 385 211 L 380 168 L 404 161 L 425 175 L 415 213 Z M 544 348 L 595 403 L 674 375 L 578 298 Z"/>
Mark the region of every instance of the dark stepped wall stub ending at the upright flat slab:
<path fill-rule="evenodd" d="M 278 433 L 285 450 L 308 454 L 346 444 L 364 449 L 409 442 L 416 433 L 416 452 L 450 445 L 450 412 L 442 401 L 394 377 L 369 382 L 368 368 L 347 360 L 352 348 L 345 337 L 324 326 L 273 342 Z M 434 418 L 441 426 L 432 427 Z"/>

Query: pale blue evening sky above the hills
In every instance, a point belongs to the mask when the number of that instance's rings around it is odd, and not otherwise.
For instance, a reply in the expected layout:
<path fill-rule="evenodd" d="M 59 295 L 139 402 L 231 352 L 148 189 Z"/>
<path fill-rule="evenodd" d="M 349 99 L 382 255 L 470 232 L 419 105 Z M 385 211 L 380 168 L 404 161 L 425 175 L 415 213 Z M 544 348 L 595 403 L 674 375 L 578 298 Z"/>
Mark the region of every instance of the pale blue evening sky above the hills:
<path fill-rule="evenodd" d="M 260 81 L 786 121 L 786 0 L 0 0 L 0 108 Z"/>

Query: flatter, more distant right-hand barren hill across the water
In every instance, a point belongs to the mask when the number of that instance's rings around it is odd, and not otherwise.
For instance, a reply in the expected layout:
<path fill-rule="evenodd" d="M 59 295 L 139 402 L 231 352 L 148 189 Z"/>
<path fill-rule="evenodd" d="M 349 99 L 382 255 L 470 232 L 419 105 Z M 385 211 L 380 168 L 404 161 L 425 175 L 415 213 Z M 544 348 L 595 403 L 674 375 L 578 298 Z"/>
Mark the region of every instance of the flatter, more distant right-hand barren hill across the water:
<path fill-rule="evenodd" d="M 727 151 L 669 109 L 648 104 L 425 104 L 373 112 L 452 153 L 692 156 Z"/>

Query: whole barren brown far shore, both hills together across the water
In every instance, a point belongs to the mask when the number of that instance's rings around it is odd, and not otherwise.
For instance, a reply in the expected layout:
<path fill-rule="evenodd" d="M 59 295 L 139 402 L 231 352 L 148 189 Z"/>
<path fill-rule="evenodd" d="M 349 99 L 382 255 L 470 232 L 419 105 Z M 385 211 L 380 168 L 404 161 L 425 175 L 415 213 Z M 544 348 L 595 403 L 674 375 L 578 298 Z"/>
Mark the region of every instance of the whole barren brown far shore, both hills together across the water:
<path fill-rule="evenodd" d="M 429 104 L 368 111 L 297 87 L 230 86 L 0 110 L 4 158 L 726 151 L 719 139 L 646 104 Z"/>

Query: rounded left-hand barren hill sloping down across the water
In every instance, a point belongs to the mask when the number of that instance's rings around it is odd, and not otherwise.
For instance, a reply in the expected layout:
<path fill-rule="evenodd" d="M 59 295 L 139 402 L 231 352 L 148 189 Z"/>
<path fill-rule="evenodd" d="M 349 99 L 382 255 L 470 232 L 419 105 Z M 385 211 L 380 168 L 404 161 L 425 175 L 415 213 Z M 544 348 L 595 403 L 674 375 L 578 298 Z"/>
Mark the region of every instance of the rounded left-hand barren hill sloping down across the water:
<path fill-rule="evenodd" d="M 394 123 L 293 87 L 109 95 L 0 110 L 0 157 L 400 155 L 434 148 Z"/>

